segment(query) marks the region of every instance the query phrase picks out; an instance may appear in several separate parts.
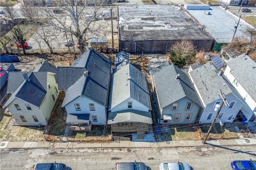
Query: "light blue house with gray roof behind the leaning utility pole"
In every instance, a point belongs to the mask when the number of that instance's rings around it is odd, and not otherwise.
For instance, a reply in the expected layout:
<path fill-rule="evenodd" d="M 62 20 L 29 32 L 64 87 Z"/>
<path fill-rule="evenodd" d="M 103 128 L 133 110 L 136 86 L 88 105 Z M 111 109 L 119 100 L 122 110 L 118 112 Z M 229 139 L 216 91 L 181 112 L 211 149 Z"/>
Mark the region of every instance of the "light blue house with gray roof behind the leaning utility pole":
<path fill-rule="evenodd" d="M 200 113 L 199 123 L 212 123 L 216 115 L 214 107 L 222 103 L 220 93 L 224 93 L 229 106 L 223 105 L 216 122 L 232 123 L 244 102 L 234 87 L 228 83 L 226 77 L 222 75 L 223 72 L 219 72 L 212 62 L 208 62 L 188 74 L 204 107 Z"/>

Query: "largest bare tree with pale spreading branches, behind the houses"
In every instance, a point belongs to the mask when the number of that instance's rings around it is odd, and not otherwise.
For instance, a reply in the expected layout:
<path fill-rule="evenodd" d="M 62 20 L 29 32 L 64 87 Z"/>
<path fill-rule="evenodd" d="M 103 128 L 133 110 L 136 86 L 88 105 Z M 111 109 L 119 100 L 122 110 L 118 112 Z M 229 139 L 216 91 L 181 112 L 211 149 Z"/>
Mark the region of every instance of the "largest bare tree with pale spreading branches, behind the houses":
<path fill-rule="evenodd" d="M 46 24 L 61 32 L 66 32 L 68 35 L 74 36 L 79 44 L 81 53 L 86 51 L 86 41 L 91 38 L 101 37 L 100 30 L 104 30 L 103 26 L 97 24 L 98 10 L 106 0 L 97 1 L 93 8 L 87 8 L 87 1 L 80 0 L 58 0 L 55 5 L 59 6 L 62 14 L 54 14 L 52 9 L 42 8 L 47 18 L 52 18 Z M 86 19 L 86 14 L 91 14 L 90 19 Z"/>

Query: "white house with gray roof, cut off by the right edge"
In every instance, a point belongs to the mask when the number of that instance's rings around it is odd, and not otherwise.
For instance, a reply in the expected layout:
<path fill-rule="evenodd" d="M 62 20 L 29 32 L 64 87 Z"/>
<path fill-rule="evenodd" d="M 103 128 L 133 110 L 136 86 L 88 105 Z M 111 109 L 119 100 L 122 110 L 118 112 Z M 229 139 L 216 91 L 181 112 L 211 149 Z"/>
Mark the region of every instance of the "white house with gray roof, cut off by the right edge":
<path fill-rule="evenodd" d="M 246 105 L 239 116 L 247 123 L 256 123 L 256 63 L 246 54 L 225 60 L 224 75 L 242 96 Z"/>

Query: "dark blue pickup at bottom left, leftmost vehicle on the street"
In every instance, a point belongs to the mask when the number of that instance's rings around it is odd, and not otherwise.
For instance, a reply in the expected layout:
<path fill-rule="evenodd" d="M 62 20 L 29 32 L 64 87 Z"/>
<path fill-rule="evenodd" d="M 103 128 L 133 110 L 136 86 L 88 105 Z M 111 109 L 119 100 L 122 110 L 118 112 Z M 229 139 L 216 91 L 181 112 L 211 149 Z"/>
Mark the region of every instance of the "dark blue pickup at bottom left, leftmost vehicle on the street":
<path fill-rule="evenodd" d="M 38 163 L 35 170 L 69 170 L 70 168 L 61 163 Z"/>

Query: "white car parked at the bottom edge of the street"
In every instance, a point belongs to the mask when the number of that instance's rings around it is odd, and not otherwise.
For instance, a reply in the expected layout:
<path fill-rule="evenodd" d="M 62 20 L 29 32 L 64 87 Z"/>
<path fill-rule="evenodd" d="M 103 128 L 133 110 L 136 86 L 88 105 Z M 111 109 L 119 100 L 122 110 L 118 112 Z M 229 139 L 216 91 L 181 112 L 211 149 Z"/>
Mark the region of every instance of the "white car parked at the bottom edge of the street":
<path fill-rule="evenodd" d="M 191 170 L 189 164 L 182 162 L 166 162 L 159 165 L 160 170 Z"/>

